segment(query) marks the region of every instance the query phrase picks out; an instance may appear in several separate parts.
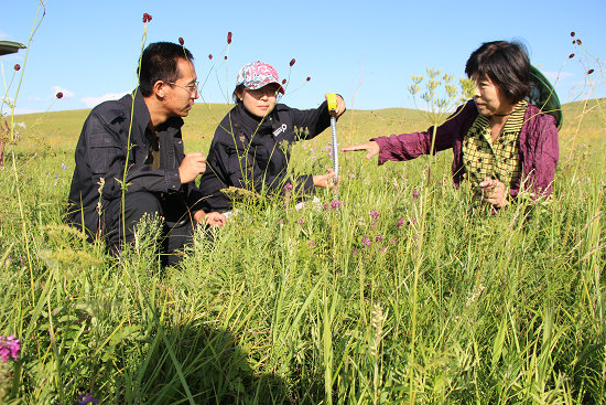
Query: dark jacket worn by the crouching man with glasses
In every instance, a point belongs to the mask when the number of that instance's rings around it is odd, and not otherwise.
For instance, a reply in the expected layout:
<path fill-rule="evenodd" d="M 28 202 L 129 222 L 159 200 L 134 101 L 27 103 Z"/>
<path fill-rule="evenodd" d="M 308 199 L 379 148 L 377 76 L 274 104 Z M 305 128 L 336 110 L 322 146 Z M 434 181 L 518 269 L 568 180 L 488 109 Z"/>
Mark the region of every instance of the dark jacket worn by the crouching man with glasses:
<path fill-rule="evenodd" d="M 134 119 L 130 120 L 131 109 Z M 178 167 L 184 158 L 181 127 L 183 119 L 173 117 L 158 128 L 160 141 L 160 169 L 153 170 L 148 163 L 150 142 L 145 138 L 145 128 L 150 122 L 150 113 L 137 92 L 119 100 L 105 102 L 95 107 L 86 121 L 76 146 L 76 167 L 72 178 L 68 201 L 68 221 L 82 228 L 83 219 L 89 238 L 97 233 L 100 221 L 97 211 L 99 185 L 102 205 L 121 199 L 127 161 L 127 142 L 130 130 L 131 149 L 128 152 L 126 175 L 127 193 L 149 191 L 160 199 L 169 200 L 181 211 L 191 209 L 199 201 L 194 184 L 181 184 Z M 181 213 L 182 215 L 183 213 Z"/>

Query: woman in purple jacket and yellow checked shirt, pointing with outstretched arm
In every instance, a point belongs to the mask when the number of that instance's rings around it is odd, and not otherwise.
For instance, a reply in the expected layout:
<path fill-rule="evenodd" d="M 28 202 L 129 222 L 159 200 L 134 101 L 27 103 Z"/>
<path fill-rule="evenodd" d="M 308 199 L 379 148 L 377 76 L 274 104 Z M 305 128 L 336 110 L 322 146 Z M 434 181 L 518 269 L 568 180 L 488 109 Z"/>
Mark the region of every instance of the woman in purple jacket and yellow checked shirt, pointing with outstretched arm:
<path fill-rule="evenodd" d="M 555 119 L 524 100 L 530 62 L 521 45 L 484 43 L 469 56 L 465 73 L 476 83 L 474 99 L 437 127 L 433 152 L 453 149 L 453 181 L 470 181 L 475 194 L 497 207 L 521 189 L 533 198 L 551 194 L 558 166 Z M 343 151 L 366 150 L 367 159 L 410 160 L 431 153 L 433 128 L 374 138 Z"/>

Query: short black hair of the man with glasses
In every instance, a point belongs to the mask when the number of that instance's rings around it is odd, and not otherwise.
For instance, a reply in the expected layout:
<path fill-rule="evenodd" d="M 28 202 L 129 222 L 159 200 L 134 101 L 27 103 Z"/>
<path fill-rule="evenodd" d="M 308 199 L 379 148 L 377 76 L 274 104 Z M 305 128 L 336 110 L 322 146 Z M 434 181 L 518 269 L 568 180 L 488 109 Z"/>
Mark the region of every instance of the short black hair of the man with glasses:
<path fill-rule="evenodd" d="M 153 93 L 158 81 L 174 83 L 181 77 L 176 66 L 177 60 L 192 62 L 194 56 L 187 49 L 172 42 L 154 42 L 141 54 L 139 67 L 139 90 L 144 97 Z"/>

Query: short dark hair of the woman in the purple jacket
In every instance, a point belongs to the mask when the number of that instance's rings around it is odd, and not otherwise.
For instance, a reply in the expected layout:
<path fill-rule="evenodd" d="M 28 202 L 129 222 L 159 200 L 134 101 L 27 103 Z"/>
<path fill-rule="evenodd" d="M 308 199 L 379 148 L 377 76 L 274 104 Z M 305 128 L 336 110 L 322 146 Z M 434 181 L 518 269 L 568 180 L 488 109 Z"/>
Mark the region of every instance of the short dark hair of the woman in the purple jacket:
<path fill-rule="evenodd" d="M 526 49 L 507 41 L 485 42 L 465 64 L 467 77 L 487 75 L 511 99 L 518 103 L 530 92 L 530 61 Z"/>

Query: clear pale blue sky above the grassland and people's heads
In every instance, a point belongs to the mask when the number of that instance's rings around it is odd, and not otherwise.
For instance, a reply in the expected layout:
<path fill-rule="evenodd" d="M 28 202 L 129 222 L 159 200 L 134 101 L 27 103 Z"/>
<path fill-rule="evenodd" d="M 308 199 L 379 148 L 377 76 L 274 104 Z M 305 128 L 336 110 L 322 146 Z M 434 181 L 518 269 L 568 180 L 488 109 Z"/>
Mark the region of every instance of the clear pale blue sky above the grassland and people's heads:
<path fill-rule="evenodd" d="M 0 40 L 26 44 L 37 6 L 0 0 Z M 606 56 L 606 0 L 48 0 L 45 6 L 26 64 L 25 50 L 0 57 L 6 84 L 14 64 L 25 65 L 18 113 L 90 108 L 134 88 L 145 12 L 152 15 L 147 43 L 183 38 L 198 78 L 207 78 L 202 96 L 209 103 L 225 103 L 238 70 L 260 60 L 281 78 L 290 76 L 281 102 L 292 107 L 315 107 L 328 92 L 343 95 L 349 108 L 414 107 L 407 89 L 412 75 L 433 67 L 461 77 L 469 54 L 494 40 L 524 43 L 563 103 L 587 95 L 588 68 L 597 85 L 592 97 L 606 93 L 599 79 L 604 62 L 600 68 L 595 61 Z M 572 44 L 571 31 L 589 54 Z M 0 89 L 6 93 L 3 84 Z M 9 96 L 15 90 L 13 83 Z M 64 98 L 52 104 L 57 90 Z"/>

